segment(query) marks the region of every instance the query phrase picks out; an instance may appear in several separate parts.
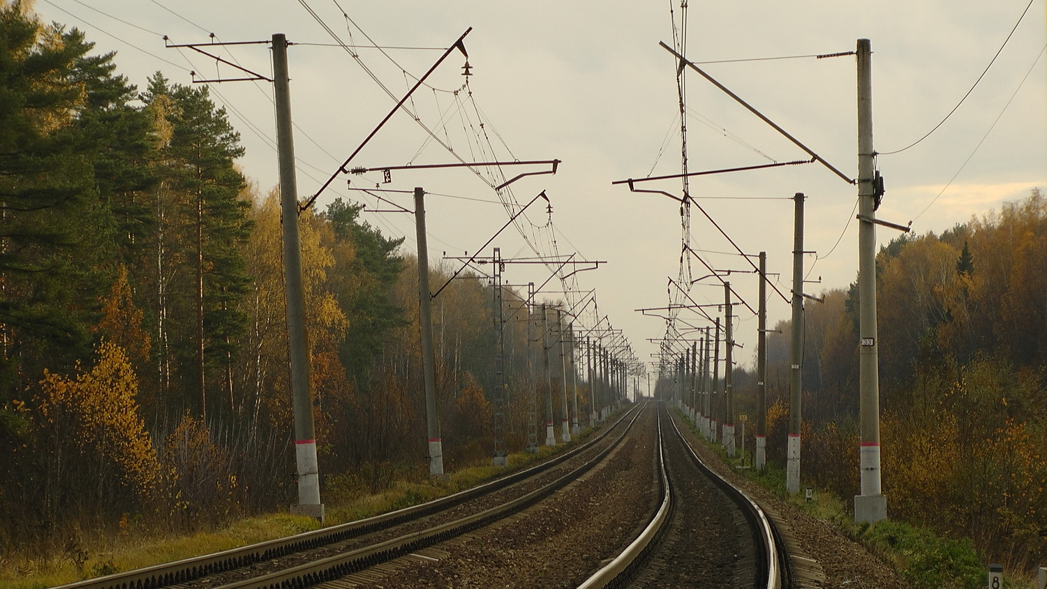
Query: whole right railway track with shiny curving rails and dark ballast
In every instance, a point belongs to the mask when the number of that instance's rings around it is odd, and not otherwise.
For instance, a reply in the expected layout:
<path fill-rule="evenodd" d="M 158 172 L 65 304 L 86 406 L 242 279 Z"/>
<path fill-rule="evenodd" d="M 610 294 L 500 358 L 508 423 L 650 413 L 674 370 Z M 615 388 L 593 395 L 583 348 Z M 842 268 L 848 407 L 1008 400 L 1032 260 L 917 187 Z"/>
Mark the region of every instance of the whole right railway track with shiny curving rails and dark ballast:
<path fill-rule="evenodd" d="M 788 556 L 768 517 L 703 463 L 665 407 L 659 413 L 659 508 L 580 589 L 790 587 Z"/>

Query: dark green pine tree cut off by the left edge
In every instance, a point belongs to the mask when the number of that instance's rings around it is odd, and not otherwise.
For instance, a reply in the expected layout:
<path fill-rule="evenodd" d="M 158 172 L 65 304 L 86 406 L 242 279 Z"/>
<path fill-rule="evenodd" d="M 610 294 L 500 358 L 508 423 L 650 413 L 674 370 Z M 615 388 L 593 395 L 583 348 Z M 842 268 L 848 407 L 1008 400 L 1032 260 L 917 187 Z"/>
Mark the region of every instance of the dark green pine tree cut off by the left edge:
<path fill-rule="evenodd" d="M 90 353 L 108 216 L 94 187 L 97 142 L 80 124 L 89 45 L 0 6 L 0 388 Z M 23 383 L 24 384 L 24 383 Z M 20 388 L 20 387 L 19 387 Z"/>

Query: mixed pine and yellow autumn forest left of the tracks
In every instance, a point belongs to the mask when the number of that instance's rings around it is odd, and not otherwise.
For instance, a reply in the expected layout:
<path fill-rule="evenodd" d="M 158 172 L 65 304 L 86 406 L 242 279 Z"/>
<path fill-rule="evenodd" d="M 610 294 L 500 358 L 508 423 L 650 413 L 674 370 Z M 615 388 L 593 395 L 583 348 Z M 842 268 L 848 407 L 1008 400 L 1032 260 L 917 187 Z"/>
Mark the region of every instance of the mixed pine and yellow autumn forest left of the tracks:
<path fill-rule="evenodd" d="M 4 551 L 296 500 L 277 195 L 237 167 L 239 135 L 206 87 L 158 72 L 139 92 L 92 47 L 0 4 Z M 360 210 L 337 200 L 299 219 L 320 472 L 373 491 L 427 474 L 425 404 L 416 258 Z M 450 468 L 493 449 L 492 305 L 476 275 L 433 301 Z M 504 305 L 515 451 L 542 347 L 520 297 Z"/>

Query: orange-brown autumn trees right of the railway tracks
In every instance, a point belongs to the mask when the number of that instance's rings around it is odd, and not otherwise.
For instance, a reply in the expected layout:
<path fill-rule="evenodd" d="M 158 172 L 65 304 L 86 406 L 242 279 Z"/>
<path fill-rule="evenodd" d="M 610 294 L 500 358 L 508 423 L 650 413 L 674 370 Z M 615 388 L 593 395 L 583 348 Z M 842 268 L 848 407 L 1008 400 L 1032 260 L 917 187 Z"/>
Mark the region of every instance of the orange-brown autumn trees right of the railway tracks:
<path fill-rule="evenodd" d="M 994 561 L 1042 565 L 1047 199 L 1033 189 L 940 235 L 895 239 L 876 267 L 889 516 L 972 538 Z M 849 500 L 860 489 L 856 285 L 824 295 L 804 311 L 802 474 Z M 767 447 L 784 465 L 789 322 L 777 329 Z"/>

